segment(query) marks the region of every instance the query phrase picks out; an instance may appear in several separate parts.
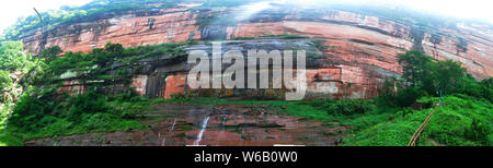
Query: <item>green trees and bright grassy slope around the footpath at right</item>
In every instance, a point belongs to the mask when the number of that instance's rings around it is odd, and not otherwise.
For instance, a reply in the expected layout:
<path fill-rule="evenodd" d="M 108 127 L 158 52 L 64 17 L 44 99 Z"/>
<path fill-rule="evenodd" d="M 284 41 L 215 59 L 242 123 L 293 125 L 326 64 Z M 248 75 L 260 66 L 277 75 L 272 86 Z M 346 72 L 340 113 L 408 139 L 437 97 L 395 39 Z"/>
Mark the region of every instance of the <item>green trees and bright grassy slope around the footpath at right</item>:
<path fill-rule="evenodd" d="M 356 132 L 347 139 L 346 145 L 406 145 L 415 129 L 440 99 L 434 97 L 440 95 L 445 96 L 445 107 L 437 108 L 420 145 L 493 145 L 492 79 L 477 82 L 459 62 L 433 61 L 419 51 L 399 56 L 399 62 L 404 69 L 403 83 L 410 86 L 403 88 L 403 84 L 394 86 L 386 82 L 382 96 L 376 100 L 400 109 L 388 113 L 391 120 L 381 120 Z M 399 91 L 392 92 L 394 87 Z M 419 104 L 428 109 L 415 111 L 409 108 Z M 356 125 L 362 119 L 355 120 Z"/>

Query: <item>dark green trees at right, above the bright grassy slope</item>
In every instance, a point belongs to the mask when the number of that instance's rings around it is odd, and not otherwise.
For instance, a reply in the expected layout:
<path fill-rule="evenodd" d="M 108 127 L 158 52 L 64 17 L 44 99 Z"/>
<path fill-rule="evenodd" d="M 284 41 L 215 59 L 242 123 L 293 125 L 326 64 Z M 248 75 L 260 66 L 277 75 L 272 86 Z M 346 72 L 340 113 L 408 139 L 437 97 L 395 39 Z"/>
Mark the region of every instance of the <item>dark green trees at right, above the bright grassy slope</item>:
<path fill-rule="evenodd" d="M 411 106 L 421 97 L 466 94 L 493 101 L 492 79 L 477 82 L 467 73 L 460 62 L 433 61 L 420 51 L 409 51 L 399 56 L 403 64 L 403 81 L 394 85 L 387 81 L 382 87 L 382 100 L 401 107 Z M 397 87 L 398 92 L 392 89 Z"/>

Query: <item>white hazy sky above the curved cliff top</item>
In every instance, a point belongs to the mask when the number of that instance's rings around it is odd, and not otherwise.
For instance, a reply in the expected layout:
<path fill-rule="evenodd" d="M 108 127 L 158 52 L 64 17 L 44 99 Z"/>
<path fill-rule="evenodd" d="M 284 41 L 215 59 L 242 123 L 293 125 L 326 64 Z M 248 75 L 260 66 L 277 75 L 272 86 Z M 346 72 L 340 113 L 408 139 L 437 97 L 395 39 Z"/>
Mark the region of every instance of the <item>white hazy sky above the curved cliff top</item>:
<path fill-rule="evenodd" d="M 0 2 L 0 33 L 9 25 L 15 23 L 19 16 L 35 14 L 35 7 L 39 12 L 49 9 L 59 9 L 61 5 L 82 5 L 91 0 L 2 0 Z M 302 3 L 317 3 L 325 0 L 291 0 Z M 426 10 L 429 12 L 471 17 L 493 23 L 493 0 L 339 0 L 349 2 L 392 2 Z"/>

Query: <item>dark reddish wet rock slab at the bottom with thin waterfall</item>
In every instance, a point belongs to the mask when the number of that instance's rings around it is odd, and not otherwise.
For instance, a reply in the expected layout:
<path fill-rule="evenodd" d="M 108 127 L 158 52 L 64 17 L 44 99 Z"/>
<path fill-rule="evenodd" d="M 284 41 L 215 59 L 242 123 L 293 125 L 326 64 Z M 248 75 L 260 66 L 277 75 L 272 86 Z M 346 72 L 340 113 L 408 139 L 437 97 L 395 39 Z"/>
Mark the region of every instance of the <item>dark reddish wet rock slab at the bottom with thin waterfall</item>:
<path fill-rule="evenodd" d="M 26 146 L 334 146 L 348 127 L 288 117 L 270 105 L 163 104 L 140 121 L 150 129 L 39 139 Z M 207 119 L 207 120 L 205 120 Z M 205 127 L 204 127 L 205 125 Z M 200 133 L 202 132 L 202 133 Z M 200 136 L 202 134 L 202 136 Z"/>

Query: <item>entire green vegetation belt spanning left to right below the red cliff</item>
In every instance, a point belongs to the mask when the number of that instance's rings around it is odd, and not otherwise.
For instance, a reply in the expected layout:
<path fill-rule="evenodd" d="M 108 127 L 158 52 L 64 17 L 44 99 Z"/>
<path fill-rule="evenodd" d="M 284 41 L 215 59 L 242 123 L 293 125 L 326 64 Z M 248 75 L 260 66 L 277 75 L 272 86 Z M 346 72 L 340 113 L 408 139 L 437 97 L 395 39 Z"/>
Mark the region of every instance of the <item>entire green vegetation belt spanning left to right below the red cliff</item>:
<path fill-rule="evenodd" d="M 284 39 L 306 38 L 296 35 L 267 36 Z M 92 84 L 90 89 L 77 96 L 58 94 L 61 79 L 77 77 L 81 82 L 114 80 L 130 76 L 128 69 L 138 68 L 144 58 L 185 56 L 182 46 L 193 44 L 167 44 L 124 48 L 106 44 L 104 48 L 89 53 L 66 52 L 50 47 L 42 53 L 35 86 L 30 87 L 15 108 L 10 121 L 8 136 L 0 145 L 22 145 L 38 137 L 146 129 L 141 119 L 151 105 L 175 104 L 243 104 L 263 105 L 278 115 L 303 117 L 306 120 L 326 122 L 328 127 L 351 125 L 343 145 L 406 145 L 415 129 L 444 95 L 445 106 L 436 109 L 419 145 L 491 146 L 493 145 L 493 79 L 477 82 L 459 62 L 434 61 L 419 51 L 399 56 L 404 73 L 401 81 L 386 81 L 381 96 L 368 100 L 241 100 L 220 98 L 193 98 L 194 95 L 173 95 L 171 99 L 148 99 L 137 96 L 133 89 L 127 94 L 107 95 L 104 84 Z M 34 60 L 23 55 L 21 43 L 2 43 L 0 51 L 0 88 L 2 93 L 13 86 L 12 72 L 30 72 Z M 61 56 L 62 57 L 59 57 Z M 110 68 L 115 63 L 123 64 Z M 110 75 L 110 71 L 118 71 Z M 24 84 L 25 76 L 20 79 Z M 394 85 L 397 84 L 397 85 Z M 395 89 L 397 88 L 397 89 Z M 12 89 L 10 89 L 12 91 Z M 72 93 L 73 94 L 73 93 Z M 2 94 L 3 96 L 3 94 Z M 12 97 L 12 96 L 10 96 Z M 11 98 L 2 97 L 0 129 L 4 123 Z M 337 125 L 329 124 L 339 122 Z M 182 130 L 191 128 L 184 127 Z M 305 141 L 311 137 L 302 137 Z"/>

